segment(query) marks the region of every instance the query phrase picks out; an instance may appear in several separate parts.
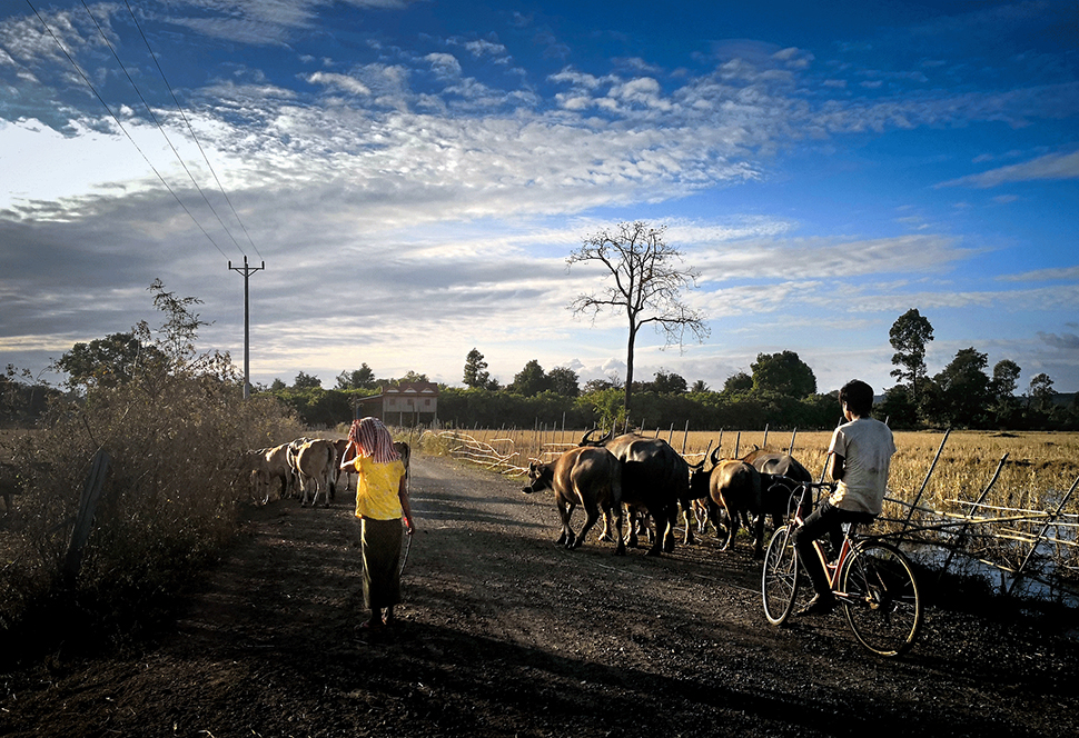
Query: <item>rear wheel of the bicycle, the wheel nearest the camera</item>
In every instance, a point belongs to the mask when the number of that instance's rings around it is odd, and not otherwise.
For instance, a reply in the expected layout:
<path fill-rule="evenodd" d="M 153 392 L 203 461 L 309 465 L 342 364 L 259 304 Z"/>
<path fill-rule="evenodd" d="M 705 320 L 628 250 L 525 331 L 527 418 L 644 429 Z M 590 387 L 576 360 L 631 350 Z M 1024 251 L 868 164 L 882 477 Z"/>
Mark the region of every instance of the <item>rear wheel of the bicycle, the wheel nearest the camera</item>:
<path fill-rule="evenodd" d="M 878 656 L 902 656 L 922 624 L 922 601 L 910 561 L 879 541 L 860 546 L 847 559 L 840 584 L 847 621 L 854 637 Z"/>

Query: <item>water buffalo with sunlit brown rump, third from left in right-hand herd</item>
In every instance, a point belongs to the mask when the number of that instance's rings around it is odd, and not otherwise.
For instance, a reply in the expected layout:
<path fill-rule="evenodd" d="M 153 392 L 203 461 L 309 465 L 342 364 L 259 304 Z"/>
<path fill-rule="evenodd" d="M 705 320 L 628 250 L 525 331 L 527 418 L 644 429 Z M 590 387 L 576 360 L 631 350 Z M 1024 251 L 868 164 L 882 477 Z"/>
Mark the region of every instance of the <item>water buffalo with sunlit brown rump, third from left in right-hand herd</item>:
<path fill-rule="evenodd" d="M 693 467 L 691 497 L 704 498 L 710 516 L 719 518 L 720 508 L 726 512 L 727 533 L 723 550 L 731 547 L 739 528 L 744 525 L 753 531 L 753 556 L 763 558 L 764 518 L 771 516 L 773 525 L 782 525 L 790 493 L 774 483 L 773 475 L 760 472 L 748 461 L 720 459 L 719 449 L 709 460 L 710 469 L 705 469 L 705 461 Z"/>

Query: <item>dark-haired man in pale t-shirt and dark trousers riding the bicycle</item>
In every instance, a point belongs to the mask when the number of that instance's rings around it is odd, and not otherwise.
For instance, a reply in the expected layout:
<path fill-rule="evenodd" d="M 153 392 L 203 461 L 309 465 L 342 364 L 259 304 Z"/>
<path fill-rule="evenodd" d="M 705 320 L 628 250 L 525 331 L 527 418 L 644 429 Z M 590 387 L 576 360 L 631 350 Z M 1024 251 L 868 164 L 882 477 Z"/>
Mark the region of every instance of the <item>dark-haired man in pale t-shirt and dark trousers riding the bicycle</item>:
<path fill-rule="evenodd" d="M 813 541 L 824 537 L 838 540 L 844 522 L 877 519 L 884 502 L 888 467 L 895 452 L 892 431 L 869 417 L 873 409 L 872 387 L 853 379 L 840 389 L 839 401 L 848 422 L 835 429 L 828 448 L 828 473 L 839 485 L 794 532 L 798 558 L 816 590 L 800 615 L 823 615 L 835 609 L 828 571 L 813 550 Z"/>

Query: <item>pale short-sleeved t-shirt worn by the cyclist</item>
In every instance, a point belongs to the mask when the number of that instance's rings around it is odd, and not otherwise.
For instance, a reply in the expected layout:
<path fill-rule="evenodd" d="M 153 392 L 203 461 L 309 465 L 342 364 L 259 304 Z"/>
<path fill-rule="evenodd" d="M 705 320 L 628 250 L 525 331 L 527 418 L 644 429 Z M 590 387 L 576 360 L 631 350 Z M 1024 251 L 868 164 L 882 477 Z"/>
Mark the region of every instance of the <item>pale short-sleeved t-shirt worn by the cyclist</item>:
<path fill-rule="evenodd" d="M 859 418 L 835 429 L 828 450 L 843 457 L 847 468 L 829 501 L 843 510 L 880 515 L 895 452 L 891 429 L 880 420 Z"/>

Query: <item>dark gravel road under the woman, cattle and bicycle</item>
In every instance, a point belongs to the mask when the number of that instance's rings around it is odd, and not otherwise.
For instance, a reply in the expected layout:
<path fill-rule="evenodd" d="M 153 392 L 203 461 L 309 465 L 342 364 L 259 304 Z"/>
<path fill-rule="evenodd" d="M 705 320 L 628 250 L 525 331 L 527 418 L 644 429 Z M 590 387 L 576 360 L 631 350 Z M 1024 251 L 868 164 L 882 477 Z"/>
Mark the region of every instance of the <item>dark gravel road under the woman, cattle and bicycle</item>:
<path fill-rule="evenodd" d="M 2 675 L 4 736 L 1068 736 L 1058 622 L 930 607 L 873 657 L 839 612 L 770 626 L 746 540 L 661 558 L 554 545 L 548 495 L 413 460 L 419 531 L 394 628 L 358 630 L 350 505 L 253 508 L 169 627 Z M 578 512 L 577 525 L 581 522 Z M 977 608 L 970 608 L 977 609 Z M 1067 625 L 1067 624 L 1066 624 Z M 1071 624 L 1076 625 L 1076 624 Z"/>

